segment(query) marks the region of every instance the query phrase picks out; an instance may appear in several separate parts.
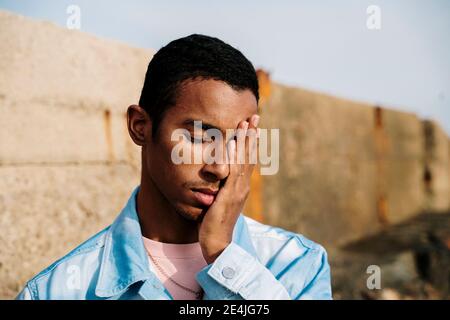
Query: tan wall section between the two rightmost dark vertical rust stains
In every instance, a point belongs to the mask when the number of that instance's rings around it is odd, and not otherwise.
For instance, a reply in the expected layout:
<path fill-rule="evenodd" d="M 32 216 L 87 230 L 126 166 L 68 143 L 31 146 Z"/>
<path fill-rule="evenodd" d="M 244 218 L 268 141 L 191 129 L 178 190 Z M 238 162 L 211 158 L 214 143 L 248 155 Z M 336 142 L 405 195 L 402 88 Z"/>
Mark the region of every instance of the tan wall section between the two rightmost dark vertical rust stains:
<path fill-rule="evenodd" d="M 382 109 L 379 193 L 386 199 L 386 223 L 395 224 L 424 209 L 424 136 L 414 114 Z"/>

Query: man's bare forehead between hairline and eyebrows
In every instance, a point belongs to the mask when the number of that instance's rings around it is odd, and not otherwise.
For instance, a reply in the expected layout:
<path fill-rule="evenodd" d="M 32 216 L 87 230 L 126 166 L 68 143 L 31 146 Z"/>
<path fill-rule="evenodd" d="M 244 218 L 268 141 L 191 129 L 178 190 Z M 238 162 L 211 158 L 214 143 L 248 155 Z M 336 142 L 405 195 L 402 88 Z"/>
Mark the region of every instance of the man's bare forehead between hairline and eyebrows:
<path fill-rule="evenodd" d="M 217 80 L 189 80 L 180 86 L 176 105 L 167 115 L 178 124 L 187 119 L 202 120 L 221 130 L 235 129 L 257 112 L 250 90 L 237 91 Z"/>

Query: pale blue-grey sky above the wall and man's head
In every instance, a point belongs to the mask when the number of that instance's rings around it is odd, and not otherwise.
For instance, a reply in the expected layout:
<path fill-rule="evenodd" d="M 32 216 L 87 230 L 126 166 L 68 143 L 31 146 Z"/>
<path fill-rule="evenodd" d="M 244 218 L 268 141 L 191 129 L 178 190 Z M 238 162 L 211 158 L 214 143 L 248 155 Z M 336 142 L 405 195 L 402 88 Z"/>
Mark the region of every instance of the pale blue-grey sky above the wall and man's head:
<path fill-rule="evenodd" d="M 275 81 L 438 120 L 450 134 L 450 1 L 0 0 L 0 8 L 137 47 L 203 33 L 240 49 Z M 381 29 L 369 30 L 369 5 Z"/>

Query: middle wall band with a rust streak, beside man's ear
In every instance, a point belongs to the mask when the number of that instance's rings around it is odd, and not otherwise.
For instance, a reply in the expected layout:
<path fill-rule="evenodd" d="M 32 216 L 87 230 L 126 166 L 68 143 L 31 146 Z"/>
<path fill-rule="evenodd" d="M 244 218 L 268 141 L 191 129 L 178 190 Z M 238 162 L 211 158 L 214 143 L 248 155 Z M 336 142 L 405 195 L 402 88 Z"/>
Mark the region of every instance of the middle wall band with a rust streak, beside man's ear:
<path fill-rule="evenodd" d="M 3 102 L 0 164 L 136 163 L 124 113 Z"/>

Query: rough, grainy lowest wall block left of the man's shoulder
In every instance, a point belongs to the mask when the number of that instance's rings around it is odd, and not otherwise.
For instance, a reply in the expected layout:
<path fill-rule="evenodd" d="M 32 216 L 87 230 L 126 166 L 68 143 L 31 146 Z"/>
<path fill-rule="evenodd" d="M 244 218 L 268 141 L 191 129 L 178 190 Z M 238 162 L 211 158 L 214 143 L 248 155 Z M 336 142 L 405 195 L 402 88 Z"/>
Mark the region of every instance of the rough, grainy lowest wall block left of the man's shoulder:
<path fill-rule="evenodd" d="M 0 166 L 0 299 L 112 223 L 139 183 L 129 165 Z"/>

